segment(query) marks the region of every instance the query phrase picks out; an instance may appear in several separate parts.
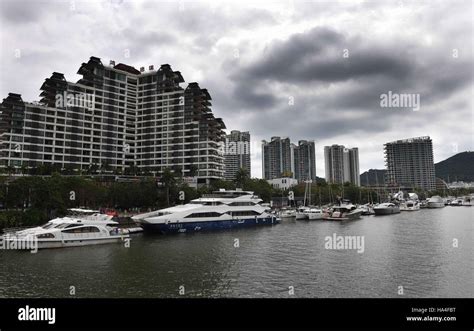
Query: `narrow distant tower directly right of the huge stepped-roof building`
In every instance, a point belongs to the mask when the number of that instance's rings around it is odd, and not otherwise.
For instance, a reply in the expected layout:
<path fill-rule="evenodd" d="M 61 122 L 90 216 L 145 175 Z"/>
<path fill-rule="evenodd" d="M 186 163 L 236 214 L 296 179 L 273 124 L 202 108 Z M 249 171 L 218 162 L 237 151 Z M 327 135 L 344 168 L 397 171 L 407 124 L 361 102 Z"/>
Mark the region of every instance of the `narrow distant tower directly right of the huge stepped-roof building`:
<path fill-rule="evenodd" d="M 246 169 L 250 176 L 250 133 L 232 130 L 226 135 L 224 156 L 226 180 L 234 180 L 241 168 Z"/>

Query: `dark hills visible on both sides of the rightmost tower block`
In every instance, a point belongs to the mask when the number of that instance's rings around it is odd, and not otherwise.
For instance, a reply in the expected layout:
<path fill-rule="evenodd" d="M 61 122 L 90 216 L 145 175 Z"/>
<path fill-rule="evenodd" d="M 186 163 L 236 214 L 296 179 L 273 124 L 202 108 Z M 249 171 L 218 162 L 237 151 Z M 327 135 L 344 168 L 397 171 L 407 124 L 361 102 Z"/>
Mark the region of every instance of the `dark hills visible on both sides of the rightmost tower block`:
<path fill-rule="evenodd" d="M 464 181 L 474 182 L 474 152 L 462 152 L 435 163 L 436 177 L 445 182 Z M 377 174 L 377 177 L 376 177 Z M 448 180 L 449 175 L 449 180 Z M 383 184 L 385 169 L 370 169 L 360 175 L 360 184 L 375 185 L 378 179 L 379 185 Z"/>

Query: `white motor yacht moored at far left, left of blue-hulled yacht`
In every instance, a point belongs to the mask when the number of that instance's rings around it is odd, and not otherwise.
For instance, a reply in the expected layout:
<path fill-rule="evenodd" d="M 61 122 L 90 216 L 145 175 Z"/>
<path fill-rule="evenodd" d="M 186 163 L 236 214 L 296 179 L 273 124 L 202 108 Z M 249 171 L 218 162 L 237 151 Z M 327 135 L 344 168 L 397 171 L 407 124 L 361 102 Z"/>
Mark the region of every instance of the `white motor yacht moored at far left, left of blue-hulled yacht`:
<path fill-rule="evenodd" d="M 119 228 L 117 222 L 112 221 L 113 216 L 94 211 L 90 213 L 86 211 L 85 214 L 55 218 L 39 227 L 15 232 L 7 231 L 1 239 L 4 244 L 10 246 L 14 244 L 13 242 L 34 240 L 37 242 L 37 247 L 42 249 L 116 243 L 129 238 L 128 233 Z"/>

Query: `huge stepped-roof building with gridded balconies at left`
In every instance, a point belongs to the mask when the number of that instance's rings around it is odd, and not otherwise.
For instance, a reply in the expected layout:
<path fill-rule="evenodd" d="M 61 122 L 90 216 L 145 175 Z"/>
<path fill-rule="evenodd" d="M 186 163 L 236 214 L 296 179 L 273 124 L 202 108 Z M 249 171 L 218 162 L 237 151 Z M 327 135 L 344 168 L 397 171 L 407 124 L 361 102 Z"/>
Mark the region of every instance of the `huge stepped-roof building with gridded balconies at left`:
<path fill-rule="evenodd" d="M 73 83 L 53 73 L 37 103 L 13 93 L 3 100 L 2 167 L 106 165 L 158 174 L 169 168 L 204 181 L 224 176 L 225 125 L 198 83 L 181 87 L 181 73 L 168 64 L 145 71 L 113 61 L 105 66 L 97 57 L 78 74 Z"/>

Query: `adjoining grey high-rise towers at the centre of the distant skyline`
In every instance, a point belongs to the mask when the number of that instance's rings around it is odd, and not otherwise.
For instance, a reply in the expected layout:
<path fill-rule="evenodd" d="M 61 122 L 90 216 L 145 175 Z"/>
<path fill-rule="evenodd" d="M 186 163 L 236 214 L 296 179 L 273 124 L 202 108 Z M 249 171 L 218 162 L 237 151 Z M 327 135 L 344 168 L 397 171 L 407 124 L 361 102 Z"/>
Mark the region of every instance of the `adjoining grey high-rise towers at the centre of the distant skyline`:
<path fill-rule="evenodd" d="M 264 179 L 296 178 L 299 182 L 316 180 L 314 141 L 300 140 L 292 144 L 290 138 L 272 137 L 262 142 L 262 174 Z"/>

